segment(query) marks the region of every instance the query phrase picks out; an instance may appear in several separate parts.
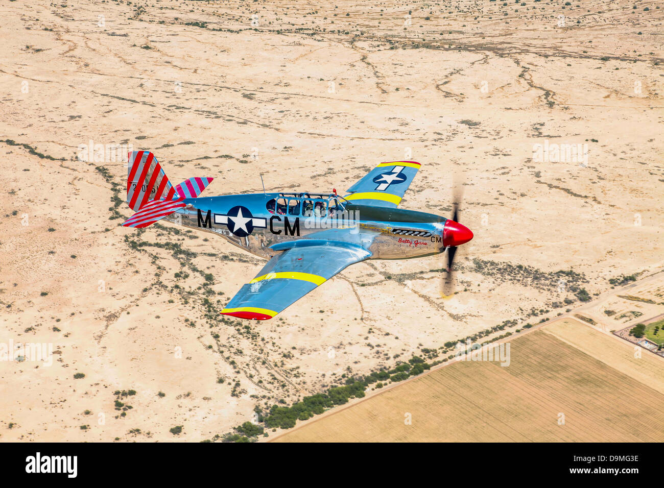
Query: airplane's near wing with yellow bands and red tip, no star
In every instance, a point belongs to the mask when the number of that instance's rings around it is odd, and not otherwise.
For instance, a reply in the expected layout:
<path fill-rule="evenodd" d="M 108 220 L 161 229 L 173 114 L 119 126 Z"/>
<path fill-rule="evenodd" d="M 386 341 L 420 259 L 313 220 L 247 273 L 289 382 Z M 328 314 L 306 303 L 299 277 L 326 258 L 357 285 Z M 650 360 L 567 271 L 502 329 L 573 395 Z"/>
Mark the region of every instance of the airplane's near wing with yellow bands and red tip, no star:
<path fill-rule="evenodd" d="M 272 319 L 347 266 L 371 256 L 359 246 L 341 242 L 291 244 L 295 246 L 274 256 L 256 278 L 243 285 L 221 313 L 240 319 Z"/>

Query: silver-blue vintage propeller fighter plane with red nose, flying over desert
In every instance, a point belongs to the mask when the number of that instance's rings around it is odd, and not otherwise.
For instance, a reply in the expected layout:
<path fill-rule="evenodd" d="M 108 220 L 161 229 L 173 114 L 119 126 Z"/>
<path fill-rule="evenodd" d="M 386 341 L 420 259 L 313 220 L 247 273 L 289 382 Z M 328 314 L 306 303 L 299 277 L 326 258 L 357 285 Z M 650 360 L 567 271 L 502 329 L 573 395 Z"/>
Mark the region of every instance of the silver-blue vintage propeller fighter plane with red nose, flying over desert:
<path fill-rule="evenodd" d="M 211 232 L 268 260 L 221 313 L 268 320 L 351 264 L 410 259 L 448 250 L 448 277 L 457 246 L 473 232 L 453 218 L 398 208 L 420 169 L 415 161 L 380 163 L 351 186 L 332 193 L 251 193 L 199 197 L 211 177 L 173 187 L 150 151 L 128 154 L 127 204 L 136 213 L 122 225 L 143 228 L 165 220 Z"/>

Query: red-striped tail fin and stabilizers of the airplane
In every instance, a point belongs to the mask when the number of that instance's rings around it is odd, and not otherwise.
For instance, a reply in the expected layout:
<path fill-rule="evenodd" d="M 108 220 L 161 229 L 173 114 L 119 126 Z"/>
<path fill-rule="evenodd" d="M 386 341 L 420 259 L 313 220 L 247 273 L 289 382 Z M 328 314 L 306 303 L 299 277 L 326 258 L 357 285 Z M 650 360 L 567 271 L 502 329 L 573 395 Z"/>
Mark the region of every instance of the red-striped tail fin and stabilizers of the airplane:
<path fill-rule="evenodd" d="M 189 178 L 173 187 L 150 151 L 128 154 L 127 204 L 136 213 L 125 227 L 147 227 L 185 206 L 184 199 L 198 197 L 212 178 Z"/>

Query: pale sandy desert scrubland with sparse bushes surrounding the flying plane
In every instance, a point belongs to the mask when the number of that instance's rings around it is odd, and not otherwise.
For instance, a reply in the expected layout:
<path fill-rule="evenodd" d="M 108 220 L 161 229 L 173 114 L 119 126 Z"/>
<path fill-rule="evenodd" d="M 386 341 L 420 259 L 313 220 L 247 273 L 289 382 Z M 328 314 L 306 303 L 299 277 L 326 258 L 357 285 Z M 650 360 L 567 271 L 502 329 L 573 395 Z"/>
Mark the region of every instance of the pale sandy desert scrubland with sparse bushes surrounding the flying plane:
<path fill-rule="evenodd" d="M 3 2 L 0 341 L 56 354 L 0 363 L 0 440 L 210 439 L 256 405 L 435 361 L 657 270 L 663 9 L 524 3 Z M 344 191 L 410 150 L 423 166 L 405 208 L 447 215 L 463 182 L 459 293 L 441 297 L 442 256 L 367 262 L 277 319 L 222 322 L 262 263 L 168 224 L 118 226 L 126 169 L 79 161 L 90 140 L 153 150 L 173 182 L 215 177 L 206 195 L 260 191 L 259 171 L 268 191 Z M 533 161 L 546 140 L 588 143 L 588 164 Z M 572 381 L 551 363 L 548 386 Z M 574 422 L 544 438 L 582 436 Z"/>

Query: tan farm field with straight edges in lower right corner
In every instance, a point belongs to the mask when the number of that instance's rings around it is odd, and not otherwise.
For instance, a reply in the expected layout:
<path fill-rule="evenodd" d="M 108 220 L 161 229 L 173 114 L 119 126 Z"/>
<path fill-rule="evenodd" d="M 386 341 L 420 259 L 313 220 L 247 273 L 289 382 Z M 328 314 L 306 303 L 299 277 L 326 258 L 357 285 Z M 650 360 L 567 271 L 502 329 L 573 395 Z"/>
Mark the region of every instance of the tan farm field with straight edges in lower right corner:
<path fill-rule="evenodd" d="M 661 359 L 562 319 L 512 341 L 509 366 L 451 364 L 277 440 L 659 442 L 661 371 Z"/>

